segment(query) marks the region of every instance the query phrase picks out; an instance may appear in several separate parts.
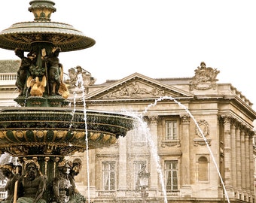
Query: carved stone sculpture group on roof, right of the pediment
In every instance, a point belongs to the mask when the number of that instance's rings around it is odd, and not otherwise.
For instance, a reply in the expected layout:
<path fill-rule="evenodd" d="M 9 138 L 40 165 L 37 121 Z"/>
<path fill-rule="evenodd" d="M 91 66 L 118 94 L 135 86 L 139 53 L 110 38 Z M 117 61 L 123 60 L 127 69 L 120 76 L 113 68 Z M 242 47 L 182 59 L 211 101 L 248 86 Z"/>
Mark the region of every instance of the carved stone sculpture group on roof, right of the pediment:
<path fill-rule="evenodd" d="M 215 89 L 218 81 L 216 77 L 219 72 L 217 68 L 206 68 L 206 63 L 201 62 L 195 70 L 194 77 L 190 80 L 190 89 Z"/>

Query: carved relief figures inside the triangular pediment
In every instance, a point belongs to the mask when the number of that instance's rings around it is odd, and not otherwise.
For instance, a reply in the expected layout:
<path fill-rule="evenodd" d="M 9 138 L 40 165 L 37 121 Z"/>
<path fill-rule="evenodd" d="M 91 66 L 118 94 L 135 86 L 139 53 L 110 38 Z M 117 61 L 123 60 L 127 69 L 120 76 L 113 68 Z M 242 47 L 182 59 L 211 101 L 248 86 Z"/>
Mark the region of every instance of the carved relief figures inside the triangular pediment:
<path fill-rule="evenodd" d="M 142 98 L 142 97 L 160 97 L 168 93 L 157 86 L 148 86 L 139 81 L 126 83 L 118 89 L 103 95 L 102 98 Z"/>

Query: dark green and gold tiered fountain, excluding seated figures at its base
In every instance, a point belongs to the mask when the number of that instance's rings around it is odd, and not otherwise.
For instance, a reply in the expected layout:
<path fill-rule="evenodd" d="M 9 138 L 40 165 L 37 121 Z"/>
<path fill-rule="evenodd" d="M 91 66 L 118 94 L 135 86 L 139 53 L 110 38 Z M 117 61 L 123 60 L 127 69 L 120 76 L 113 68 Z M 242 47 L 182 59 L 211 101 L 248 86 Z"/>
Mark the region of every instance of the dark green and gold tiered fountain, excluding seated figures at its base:
<path fill-rule="evenodd" d="M 26 162 L 38 163 L 47 177 L 42 198 L 51 202 L 52 182 L 64 157 L 114 144 L 133 128 L 134 119 L 68 108 L 69 89 L 63 81 L 59 53 L 86 49 L 95 41 L 69 24 L 51 22 L 54 2 L 29 4 L 34 21 L 15 23 L 0 32 L 0 47 L 14 50 L 21 59 L 16 83 L 20 94 L 14 99 L 20 107 L 0 111 L 0 151 L 17 157 L 23 174 Z"/>

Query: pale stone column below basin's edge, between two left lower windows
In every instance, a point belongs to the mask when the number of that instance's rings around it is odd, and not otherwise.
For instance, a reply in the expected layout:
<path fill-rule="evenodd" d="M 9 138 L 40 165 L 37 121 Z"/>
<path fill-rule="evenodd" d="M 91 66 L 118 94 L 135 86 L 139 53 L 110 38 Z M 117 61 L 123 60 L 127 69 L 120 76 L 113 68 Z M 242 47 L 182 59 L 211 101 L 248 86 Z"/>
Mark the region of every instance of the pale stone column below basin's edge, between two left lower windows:
<path fill-rule="evenodd" d="M 117 190 L 126 190 L 127 183 L 126 183 L 126 138 L 120 137 L 118 140 L 118 150 L 119 150 L 119 169 L 118 169 L 118 188 Z"/>

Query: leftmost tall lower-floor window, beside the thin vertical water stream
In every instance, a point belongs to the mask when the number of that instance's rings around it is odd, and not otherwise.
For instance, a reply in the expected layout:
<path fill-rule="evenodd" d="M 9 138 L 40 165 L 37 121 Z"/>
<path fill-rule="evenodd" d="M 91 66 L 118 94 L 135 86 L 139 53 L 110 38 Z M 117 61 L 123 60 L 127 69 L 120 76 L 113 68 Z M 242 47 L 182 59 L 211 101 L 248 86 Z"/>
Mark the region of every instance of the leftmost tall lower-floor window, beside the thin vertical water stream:
<path fill-rule="evenodd" d="M 104 190 L 115 189 L 115 163 L 102 162 L 102 186 Z"/>

